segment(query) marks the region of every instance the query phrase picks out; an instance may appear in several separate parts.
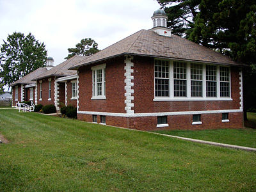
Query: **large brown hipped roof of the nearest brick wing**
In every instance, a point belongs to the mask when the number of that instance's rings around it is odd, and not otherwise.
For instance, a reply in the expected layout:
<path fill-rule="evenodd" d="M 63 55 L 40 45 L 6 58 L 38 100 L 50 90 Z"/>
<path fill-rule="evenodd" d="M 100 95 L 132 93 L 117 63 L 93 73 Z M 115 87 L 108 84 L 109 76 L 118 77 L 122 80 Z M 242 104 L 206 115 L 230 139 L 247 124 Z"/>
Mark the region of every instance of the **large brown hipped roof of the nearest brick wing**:
<path fill-rule="evenodd" d="M 76 69 L 97 61 L 106 60 L 124 54 L 150 56 L 157 58 L 170 58 L 176 60 L 189 60 L 205 63 L 225 65 L 242 65 L 232 61 L 219 52 L 195 44 L 177 35 L 161 36 L 154 31 L 142 29 L 123 40 L 110 45 L 96 54 L 86 58 L 70 69 Z"/>

